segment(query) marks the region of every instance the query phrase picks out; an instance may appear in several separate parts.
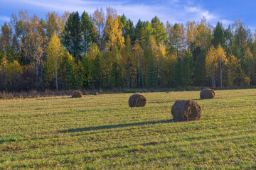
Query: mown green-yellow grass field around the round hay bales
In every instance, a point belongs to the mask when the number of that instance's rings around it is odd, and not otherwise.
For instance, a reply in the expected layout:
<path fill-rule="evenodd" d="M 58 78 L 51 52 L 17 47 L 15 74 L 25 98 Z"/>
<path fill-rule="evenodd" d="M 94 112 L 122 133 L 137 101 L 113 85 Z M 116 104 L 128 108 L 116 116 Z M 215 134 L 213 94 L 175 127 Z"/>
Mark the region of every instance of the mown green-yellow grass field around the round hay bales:
<path fill-rule="evenodd" d="M 0 100 L 0 169 L 256 169 L 256 89 Z M 190 98 L 200 121 L 172 123 Z"/>

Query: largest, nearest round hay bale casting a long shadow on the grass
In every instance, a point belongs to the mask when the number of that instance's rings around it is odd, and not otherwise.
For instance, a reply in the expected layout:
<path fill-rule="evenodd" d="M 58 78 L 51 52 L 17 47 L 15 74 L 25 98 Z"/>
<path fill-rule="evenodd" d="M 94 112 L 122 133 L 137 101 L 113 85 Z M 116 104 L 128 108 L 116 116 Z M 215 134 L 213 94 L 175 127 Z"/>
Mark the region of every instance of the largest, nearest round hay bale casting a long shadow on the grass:
<path fill-rule="evenodd" d="M 171 114 L 176 121 L 200 120 L 202 117 L 202 108 L 196 101 L 176 101 L 171 108 Z"/>

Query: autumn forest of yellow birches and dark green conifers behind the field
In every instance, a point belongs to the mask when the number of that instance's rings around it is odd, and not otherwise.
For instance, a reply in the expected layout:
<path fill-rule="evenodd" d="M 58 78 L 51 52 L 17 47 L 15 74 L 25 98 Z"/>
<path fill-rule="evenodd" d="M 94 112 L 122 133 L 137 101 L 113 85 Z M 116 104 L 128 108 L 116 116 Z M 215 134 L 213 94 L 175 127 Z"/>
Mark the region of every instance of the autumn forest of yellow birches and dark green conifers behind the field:
<path fill-rule="evenodd" d="M 133 23 L 112 7 L 13 13 L 0 32 L 0 91 L 256 85 L 256 34 L 240 18 Z"/>

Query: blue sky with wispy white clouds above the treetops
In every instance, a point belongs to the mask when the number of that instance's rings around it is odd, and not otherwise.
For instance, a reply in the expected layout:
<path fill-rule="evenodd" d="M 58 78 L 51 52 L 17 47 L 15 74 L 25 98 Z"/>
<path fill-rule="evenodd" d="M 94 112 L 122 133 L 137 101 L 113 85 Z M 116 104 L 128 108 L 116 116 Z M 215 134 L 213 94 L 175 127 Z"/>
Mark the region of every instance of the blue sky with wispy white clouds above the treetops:
<path fill-rule="evenodd" d="M 0 0 L 0 25 L 9 22 L 12 12 L 27 10 L 30 16 L 35 13 L 39 18 L 46 18 L 48 11 L 56 11 L 62 14 L 64 11 L 86 11 L 92 14 L 97 7 L 112 6 L 117 13 L 122 13 L 137 23 L 139 18 L 142 21 L 151 21 L 151 18 L 158 16 L 161 21 L 174 23 L 186 23 L 186 21 L 200 21 L 203 16 L 215 26 L 217 21 L 223 26 L 232 24 L 236 19 L 241 18 L 246 26 L 255 32 L 256 18 L 254 0 Z"/>

